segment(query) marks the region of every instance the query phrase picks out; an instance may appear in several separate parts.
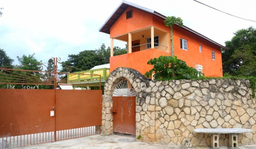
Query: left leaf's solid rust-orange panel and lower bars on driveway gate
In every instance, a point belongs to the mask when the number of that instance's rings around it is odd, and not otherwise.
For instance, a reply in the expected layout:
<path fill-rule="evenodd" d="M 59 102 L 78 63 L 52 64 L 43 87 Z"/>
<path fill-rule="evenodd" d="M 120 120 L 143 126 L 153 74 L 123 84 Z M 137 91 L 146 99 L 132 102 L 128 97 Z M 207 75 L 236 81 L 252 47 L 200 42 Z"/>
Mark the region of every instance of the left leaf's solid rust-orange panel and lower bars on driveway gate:
<path fill-rule="evenodd" d="M 53 90 L 0 89 L 0 95 L 2 148 L 54 141 Z"/>

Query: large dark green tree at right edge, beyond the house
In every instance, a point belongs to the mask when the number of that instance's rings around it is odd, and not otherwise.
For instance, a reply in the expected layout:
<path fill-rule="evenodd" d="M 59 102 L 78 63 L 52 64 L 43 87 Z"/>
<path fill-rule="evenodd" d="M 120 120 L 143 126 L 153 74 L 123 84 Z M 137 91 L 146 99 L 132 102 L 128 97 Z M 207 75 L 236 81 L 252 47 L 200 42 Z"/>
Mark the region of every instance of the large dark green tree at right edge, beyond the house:
<path fill-rule="evenodd" d="M 249 27 L 234 33 L 222 50 L 223 73 L 234 76 L 256 76 L 256 29 Z"/>

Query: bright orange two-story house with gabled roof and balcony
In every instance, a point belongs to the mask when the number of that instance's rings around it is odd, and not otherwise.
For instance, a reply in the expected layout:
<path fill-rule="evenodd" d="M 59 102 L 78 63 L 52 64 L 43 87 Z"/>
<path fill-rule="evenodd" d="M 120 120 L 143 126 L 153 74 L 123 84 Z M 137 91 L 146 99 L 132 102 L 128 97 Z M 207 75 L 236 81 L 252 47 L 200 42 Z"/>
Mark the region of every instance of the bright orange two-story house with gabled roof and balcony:
<path fill-rule="evenodd" d="M 151 58 L 170 55 L 170 27 L 166 16 L 123 1 L 107 19 L 100 32 L 110 34 L 110 72 L 118 67 L 134 68 L 143 75 L 152 69 Z M 127 54 L 113 57 L 113 39 L 127 42 Z M 154 40 L 153 40 L 154 39 Z M 174 55 L 205 76 L 222 77 L 221 48 L 226 47 L 192 29 L 173 26 Z"/>

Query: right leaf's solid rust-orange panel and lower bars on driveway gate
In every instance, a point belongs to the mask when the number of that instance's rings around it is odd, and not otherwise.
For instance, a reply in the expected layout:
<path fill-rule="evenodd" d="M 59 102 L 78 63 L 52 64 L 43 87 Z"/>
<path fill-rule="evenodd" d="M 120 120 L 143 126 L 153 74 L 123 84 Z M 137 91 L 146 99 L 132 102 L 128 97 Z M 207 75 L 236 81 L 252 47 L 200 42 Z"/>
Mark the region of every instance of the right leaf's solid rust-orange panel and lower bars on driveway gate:
<path fill-rule="evenodd" d="M 100 133 L 101 90 L 56 90 L 56 139 Z"/>

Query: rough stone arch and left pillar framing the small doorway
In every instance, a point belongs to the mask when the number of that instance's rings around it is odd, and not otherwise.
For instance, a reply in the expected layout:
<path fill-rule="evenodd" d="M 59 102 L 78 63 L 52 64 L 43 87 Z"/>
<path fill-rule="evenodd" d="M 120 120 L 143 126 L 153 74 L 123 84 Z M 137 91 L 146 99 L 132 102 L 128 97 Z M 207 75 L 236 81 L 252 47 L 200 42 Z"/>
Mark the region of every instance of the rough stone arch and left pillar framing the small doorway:
<path fill-rule="evenodd" d="M 124 80 L 127 80 L 127 82 L 131 84 L 132 88 L 136 91 L 137 95 L 144 93 L 146 91 L 146 87 L 149 86 L 148 80 L 141 73 L 139 73 L 138 71 L 132 68 L 120 67 L 112 71 L 112 73 L 110 73 L 109 78 L 107 78 L 106 80 L 106 83 L 104 86 L 104 95 L 102 97 L 102 134 L 113 133 L 113 130 L 114 130 L 113 129 L 113 113 L 112 113 L 113 112 L 112 111 L 113 94 L 114 96 L 118 96 L 118 95 L 115 95 L 114 91 L 118 87 L 122 88 L 122 85 L 120 85 L 120 83 L 122 83 Z M 126 95 L 126 93 L 124 94 Z M 134 94 L 132 96 L 134 96 Z M 136 105 L 139 105 L 138 97 L 139 96 L 136 97 Z M 134 113 L 135 113 L 135 109 L 134 109 Z M 135 117 L 135 115 L 133 116 Z M 135 121 L 134 121 L 134 125 L 135 125 Z"/>

